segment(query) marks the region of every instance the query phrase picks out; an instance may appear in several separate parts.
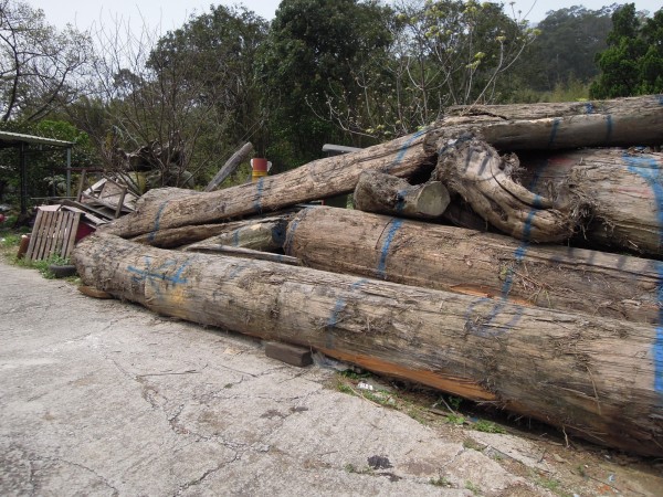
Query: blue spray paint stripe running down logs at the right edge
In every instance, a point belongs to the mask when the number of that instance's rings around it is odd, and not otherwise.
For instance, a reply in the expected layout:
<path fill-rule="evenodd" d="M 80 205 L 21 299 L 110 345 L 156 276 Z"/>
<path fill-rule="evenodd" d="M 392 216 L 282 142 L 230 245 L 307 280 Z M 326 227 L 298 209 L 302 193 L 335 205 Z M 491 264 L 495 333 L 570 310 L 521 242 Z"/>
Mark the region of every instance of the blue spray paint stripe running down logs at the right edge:
<path fill-rule="evenodd" d="M 640 176 L 652 189 L 656 202 L 656 219 L 659 221 L 659 246 L 663 243 L 663 178 L 653 157 L 623 155 L 629 171 Z M 656 262 L 656 298 L 659 299 L 659 316 L 656 319 L 656 337 L 652 346 L 654 359 L 654 390 L 663 395 L 663 264 Z"/>

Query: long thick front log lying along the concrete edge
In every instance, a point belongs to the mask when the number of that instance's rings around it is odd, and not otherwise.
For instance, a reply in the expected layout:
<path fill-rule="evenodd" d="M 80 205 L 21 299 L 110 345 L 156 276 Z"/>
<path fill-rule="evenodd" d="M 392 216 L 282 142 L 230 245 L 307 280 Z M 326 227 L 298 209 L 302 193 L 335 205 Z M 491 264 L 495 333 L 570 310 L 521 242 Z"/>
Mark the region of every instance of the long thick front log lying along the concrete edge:
<path fill-rule="evenodd" d="M 656 328 L 92 235 L 82 281 L 159 314 L 312 347 L 636 454 L 663 447 Z"/>

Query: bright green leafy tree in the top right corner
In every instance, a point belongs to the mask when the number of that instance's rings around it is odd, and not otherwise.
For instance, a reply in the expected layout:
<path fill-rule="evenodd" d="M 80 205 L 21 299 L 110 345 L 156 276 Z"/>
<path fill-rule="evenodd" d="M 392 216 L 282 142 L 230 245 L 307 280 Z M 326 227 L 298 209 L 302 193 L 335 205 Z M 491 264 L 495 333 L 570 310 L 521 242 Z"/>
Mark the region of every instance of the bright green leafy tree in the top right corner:
<path fill-rule="evenodd" d="M 663 9 L 644 21 L 634 3 L 612 14 L 608 47 L 598 54 L 600 77 L 591 85 L 593 98 L 663 93 Z"/>

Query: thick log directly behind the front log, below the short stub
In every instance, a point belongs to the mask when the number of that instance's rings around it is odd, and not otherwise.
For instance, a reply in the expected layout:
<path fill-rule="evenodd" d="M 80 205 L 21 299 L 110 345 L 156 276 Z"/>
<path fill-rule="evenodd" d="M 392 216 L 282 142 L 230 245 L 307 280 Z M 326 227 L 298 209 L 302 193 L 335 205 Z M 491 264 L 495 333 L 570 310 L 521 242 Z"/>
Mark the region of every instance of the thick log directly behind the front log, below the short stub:
<path fill-rule="evenodd" d="M 628 255 L 324 207 L 293 219 L 285 251 L 316 269 L 639 322 L 660 317 L 663 263 Z"/>

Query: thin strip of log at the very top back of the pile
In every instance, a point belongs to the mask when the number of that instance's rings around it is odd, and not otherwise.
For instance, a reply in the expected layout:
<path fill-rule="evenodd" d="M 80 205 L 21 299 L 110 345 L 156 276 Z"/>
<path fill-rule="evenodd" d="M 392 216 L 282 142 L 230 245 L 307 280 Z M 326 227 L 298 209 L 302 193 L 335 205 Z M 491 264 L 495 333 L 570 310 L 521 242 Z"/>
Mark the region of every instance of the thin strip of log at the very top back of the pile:
<path fill-rule="evenodd" d="M 445 110 L 448 116 L 493 116 L 501 119 L 541 119 L 546 117 L 581 116 L 587 114 L 639 114 L 657 110 L 663 95 L 590 102 L 560 102 L 512 105 L 455 105 Z"/>

